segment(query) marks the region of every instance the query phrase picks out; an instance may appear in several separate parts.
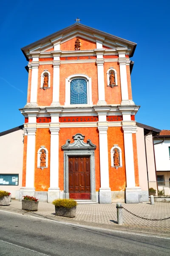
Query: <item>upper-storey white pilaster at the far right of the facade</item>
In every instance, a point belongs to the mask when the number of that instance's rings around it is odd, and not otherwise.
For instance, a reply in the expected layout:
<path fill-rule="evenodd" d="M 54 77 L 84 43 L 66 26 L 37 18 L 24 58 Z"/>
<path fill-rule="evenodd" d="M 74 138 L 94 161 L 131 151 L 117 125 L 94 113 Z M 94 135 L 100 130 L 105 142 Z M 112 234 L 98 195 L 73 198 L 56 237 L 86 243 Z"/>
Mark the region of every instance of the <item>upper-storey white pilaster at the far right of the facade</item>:
<path fill-rule="evenodd" d="M 128 96 L 128 87 L 127 87 L 127 72 L 126 72 L 126 64 L 127 59 L 125 57 L 127 48 L 117 48 L 119 53 L 119 70 L 120 70 L 120 83 L 121 83 L 121 94 L 122 94 L 122 102 L 121 105 L 134 105 L 133 101 L 129 101 Z"/>

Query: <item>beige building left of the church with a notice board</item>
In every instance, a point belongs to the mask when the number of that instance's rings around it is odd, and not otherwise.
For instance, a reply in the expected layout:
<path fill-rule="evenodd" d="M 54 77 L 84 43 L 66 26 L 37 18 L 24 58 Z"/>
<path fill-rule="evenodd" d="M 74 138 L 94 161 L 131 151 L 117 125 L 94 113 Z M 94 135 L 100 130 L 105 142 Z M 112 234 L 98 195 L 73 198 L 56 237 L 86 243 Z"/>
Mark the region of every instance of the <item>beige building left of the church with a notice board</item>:
<path fill-rule="evenodd" d="M 19 198 L 23 172 L 23 125 L 0 133 L 0 190 Z"/>

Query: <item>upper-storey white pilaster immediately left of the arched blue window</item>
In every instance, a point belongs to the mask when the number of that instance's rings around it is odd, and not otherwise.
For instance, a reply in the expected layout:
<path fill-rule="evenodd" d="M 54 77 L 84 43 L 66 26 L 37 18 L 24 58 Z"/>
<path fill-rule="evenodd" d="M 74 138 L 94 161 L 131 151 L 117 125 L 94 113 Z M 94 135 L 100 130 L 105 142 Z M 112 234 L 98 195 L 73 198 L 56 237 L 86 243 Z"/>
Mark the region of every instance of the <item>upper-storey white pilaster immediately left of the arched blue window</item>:
<path fill-rule="evenodd" d="M 53 102 L 51 106 L 59 106 L 59 67 L 60 67 L 60 59 L 59 56 L 62 51 L 52 52 L 54 56 L 53 61 Z"/>

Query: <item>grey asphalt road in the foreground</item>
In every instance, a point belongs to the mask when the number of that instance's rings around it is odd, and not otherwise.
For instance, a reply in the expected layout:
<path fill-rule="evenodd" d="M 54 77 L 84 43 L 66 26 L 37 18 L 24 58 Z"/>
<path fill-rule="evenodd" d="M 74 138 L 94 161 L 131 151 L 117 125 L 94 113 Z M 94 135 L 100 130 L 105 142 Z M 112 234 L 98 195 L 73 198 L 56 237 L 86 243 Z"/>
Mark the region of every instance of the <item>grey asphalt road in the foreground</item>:
<path fill-rule="evenodd" d="M 0 211 L 0 256 L 169 256 L 170 238 Z"/>

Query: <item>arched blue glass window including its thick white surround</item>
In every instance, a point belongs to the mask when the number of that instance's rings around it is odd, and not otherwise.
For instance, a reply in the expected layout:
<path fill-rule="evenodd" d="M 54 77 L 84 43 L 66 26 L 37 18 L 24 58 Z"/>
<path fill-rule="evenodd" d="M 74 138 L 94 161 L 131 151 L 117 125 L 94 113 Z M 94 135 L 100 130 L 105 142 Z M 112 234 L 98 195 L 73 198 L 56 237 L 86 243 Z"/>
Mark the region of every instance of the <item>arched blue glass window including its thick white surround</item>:
<path fill-rule="evenodd" d="M 65 79 L 65 105 L 93 105 L 91 77 L 75 74 Z"/>

